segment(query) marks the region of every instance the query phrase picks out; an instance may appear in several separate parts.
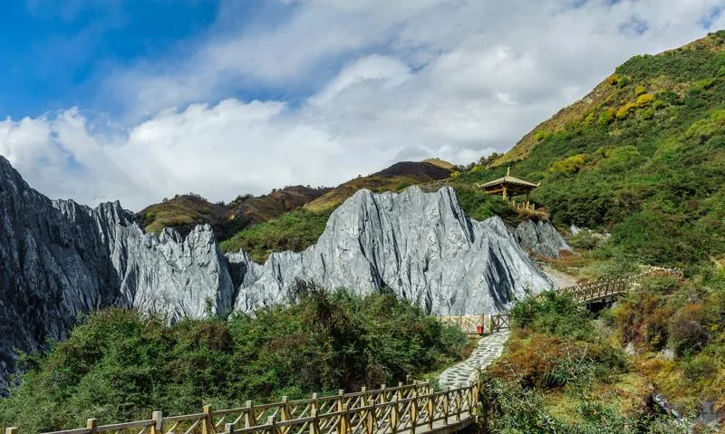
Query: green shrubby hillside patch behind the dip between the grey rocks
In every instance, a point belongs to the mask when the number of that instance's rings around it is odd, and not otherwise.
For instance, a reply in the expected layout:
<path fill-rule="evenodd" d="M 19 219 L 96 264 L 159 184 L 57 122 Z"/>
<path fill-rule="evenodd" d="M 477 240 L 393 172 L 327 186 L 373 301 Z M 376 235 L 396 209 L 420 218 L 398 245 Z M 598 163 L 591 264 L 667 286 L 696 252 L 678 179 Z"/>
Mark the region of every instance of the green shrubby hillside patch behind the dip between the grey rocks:
<path fill-rule="evenodd" d="M 312 246 L 323 232 L 332 210 L 312 212 L 295 209 L 265 223 L 247 227 L 221 243 L 225 252 L 243 249 L 257 263 L 264 263 L 272 252 L 300 252 Z"/>

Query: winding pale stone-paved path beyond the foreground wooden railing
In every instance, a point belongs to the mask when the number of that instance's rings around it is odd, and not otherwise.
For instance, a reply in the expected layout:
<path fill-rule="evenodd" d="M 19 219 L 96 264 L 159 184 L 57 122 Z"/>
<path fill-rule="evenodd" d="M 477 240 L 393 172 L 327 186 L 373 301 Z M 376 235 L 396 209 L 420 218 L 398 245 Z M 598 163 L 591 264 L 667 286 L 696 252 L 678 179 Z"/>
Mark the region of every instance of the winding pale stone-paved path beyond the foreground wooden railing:
<path fill-rule="evenodd" d="M 499 332 L 488 334 L 478 341 L 478 347 L 470 357 L 451 366 L 438 377 L 440 387 L 456 387 L 460 383 L 476 380 L 478 368 L 485 368 L 501 355 L 504 350 L 504 342 L 508 339 L 510 332 Z"/>

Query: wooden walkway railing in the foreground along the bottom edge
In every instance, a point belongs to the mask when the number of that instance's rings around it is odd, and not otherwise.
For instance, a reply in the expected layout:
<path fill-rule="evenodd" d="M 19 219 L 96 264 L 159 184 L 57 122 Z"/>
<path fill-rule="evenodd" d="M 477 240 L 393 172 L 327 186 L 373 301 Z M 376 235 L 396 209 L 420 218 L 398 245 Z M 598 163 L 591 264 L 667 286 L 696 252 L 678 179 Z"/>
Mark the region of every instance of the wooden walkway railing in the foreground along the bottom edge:
<path fill-rule="evenodd" d="M 476 414 L 478 386 L 434 391 L 428 382 L 399 383 L 354 393 L 338 391 L 305 400 L 255 404 L 247 400 L 236 409 L 165 416 L 153 411 L 148 420 L 99 425 L 89 419 L 85 428 L 47 434 L 422 434 L 458 430 L 472 423 Z M 5 434 L 18 434 L 16 428 Z"/>

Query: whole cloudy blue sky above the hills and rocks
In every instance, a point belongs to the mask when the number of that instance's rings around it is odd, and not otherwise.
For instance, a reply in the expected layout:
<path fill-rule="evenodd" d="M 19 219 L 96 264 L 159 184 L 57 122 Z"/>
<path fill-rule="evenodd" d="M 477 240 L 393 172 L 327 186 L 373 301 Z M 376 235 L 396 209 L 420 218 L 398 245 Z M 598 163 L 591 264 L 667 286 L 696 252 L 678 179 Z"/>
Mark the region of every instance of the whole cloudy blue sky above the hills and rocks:
<path fill-rule="evenodd" d="M 0 13 L 0 155 L 138 210 L 505 151 L 721 0 L 24 0 Z"/>

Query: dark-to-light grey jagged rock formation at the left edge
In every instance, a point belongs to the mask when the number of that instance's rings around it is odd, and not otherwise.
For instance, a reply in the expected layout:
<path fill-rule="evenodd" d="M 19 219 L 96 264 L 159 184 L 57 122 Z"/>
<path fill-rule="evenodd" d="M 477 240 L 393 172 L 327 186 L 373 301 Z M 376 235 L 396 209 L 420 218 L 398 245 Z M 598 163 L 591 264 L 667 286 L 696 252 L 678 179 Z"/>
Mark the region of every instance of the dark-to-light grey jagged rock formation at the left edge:
<path fill-rule="evenodd" d="M 235 286 L 210 227 L 186 239 L 144 234 L 118 202 L 50 200 L 0 156 L 0 391 L 14 349 L 63 339 L 80 313 L 138 306 L 199 316 L 228 311 Z"/>

